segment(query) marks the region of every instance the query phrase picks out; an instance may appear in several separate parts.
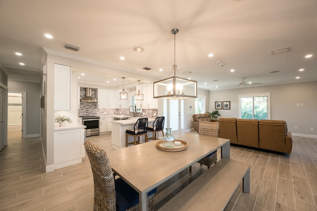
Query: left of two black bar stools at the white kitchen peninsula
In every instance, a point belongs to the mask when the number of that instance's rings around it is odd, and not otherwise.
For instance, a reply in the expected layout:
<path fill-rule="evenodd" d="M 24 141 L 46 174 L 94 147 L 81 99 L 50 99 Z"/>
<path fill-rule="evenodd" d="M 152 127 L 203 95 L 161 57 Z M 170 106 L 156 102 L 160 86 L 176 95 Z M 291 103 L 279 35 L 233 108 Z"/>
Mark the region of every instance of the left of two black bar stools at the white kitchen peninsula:
<path fill-rule="evenodd" d="M 145 135 L 145 142 L 148 142 L 148 118 L 140 118 L 134 124 L 133 130 L 127 129 L 125 131 L 125 146 L 128 147 L 129 144 L 139 144 L 140 143 L 140 136 Z M 128 137 L 133 136 L 134 142 L 128 142 Z M 136 140 L 138 137 L 138 140 Z"/>

